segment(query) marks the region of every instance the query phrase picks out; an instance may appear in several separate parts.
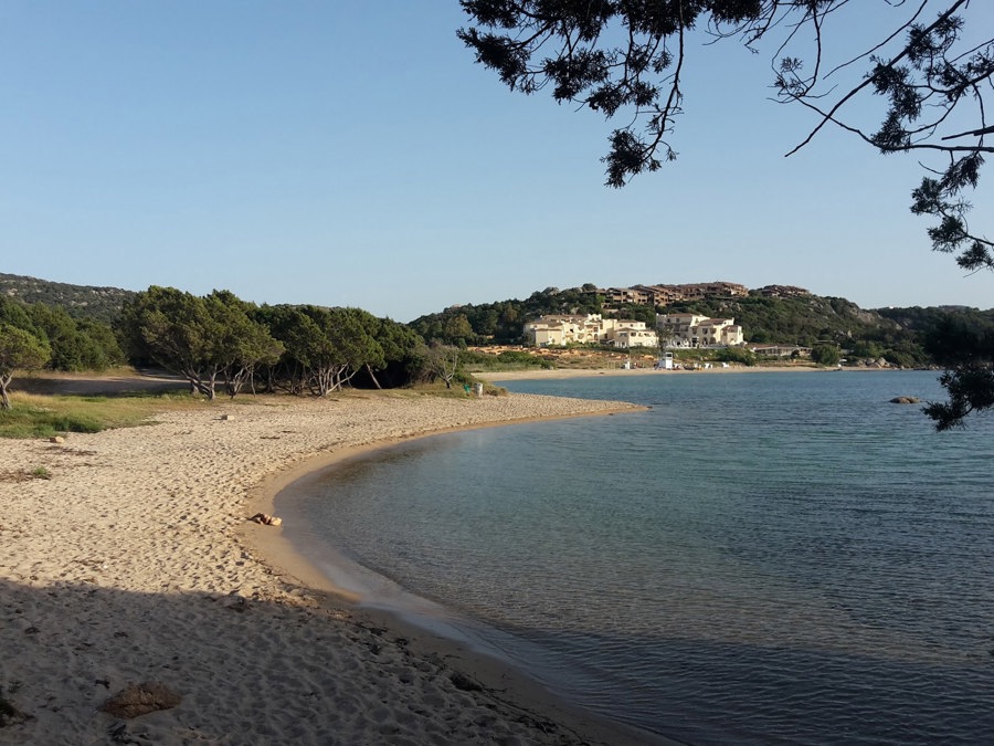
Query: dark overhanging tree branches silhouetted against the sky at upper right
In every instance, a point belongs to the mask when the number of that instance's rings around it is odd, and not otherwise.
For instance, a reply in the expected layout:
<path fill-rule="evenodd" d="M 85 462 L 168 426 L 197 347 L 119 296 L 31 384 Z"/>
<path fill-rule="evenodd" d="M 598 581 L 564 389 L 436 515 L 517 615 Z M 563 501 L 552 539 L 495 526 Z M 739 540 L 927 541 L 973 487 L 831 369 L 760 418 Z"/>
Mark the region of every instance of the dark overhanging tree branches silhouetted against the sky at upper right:
<path fill-rule="evenodd" d="M 967 269 L 994 266 L 991 241 L 971 232 L 965 190 L 976 187 L 984 137 L 994 133 L 985 97 L 994 75 L 994 40 L 984 3 L 888 2 L 887 25 L 869 49 L 839 57 L 849 24 L 865 25 L 865 3 L 850 0 L 461 0 L 470 25 L 458 38 L 511 91 L 548 88 L 606 118 L 626 117 L 603 158 L 606 183 L 676 158 L 670 136 L 683 113 L 690 44 L 727 40 L 769 50 L 779 101 L 804 106 L 816 124 L 791 153 L 826 126 L 840 127 L 880 153 L 943 159 L 914 190 L 912 210 L 939 219 L 938 251 L 961 251 Z M 882 3 L 881 3 L 882 4 Z M 967 20 L 971 20 L 967 23 Z M 972 33 L 971 33 L 972 32 Z M 848 76 L 848 77 L 847 77 Z M 854 99 L 886 101 L 875 132 L 849 118 Z"/>

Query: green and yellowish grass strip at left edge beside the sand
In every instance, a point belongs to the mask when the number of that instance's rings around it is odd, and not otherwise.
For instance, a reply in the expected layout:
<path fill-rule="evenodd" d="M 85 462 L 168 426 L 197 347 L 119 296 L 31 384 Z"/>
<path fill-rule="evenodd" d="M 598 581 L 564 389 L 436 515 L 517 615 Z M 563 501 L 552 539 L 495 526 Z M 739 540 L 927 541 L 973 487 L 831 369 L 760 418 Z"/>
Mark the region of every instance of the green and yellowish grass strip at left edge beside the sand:
<path fill-rule="evenodd" d="M 52 438 L 70 432 L 133 428 L 165 409 L 204 407 L 189 395 L 68 397 L 21 393 L 0 411 L 0 438 Z"/>

